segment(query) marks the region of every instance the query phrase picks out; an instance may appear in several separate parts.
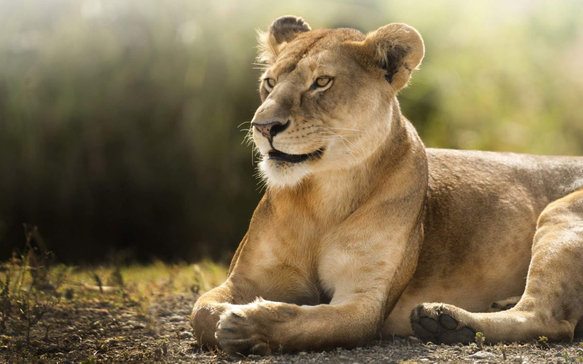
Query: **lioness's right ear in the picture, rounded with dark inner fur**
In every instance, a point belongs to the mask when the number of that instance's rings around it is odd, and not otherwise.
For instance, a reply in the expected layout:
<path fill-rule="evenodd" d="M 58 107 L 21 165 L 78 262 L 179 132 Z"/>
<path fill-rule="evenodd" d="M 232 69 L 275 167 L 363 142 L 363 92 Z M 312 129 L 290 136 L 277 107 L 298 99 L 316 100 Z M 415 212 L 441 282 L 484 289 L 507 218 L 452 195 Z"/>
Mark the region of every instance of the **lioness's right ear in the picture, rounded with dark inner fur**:
<path fill-rule="evenodd" d="M 385 79 L 398 91 L 404 87 L 423 59 L 423 39 L 415 28 L 393 23 L 368 33 L 364 40 L 369 54 L 385 70 Z"/>

